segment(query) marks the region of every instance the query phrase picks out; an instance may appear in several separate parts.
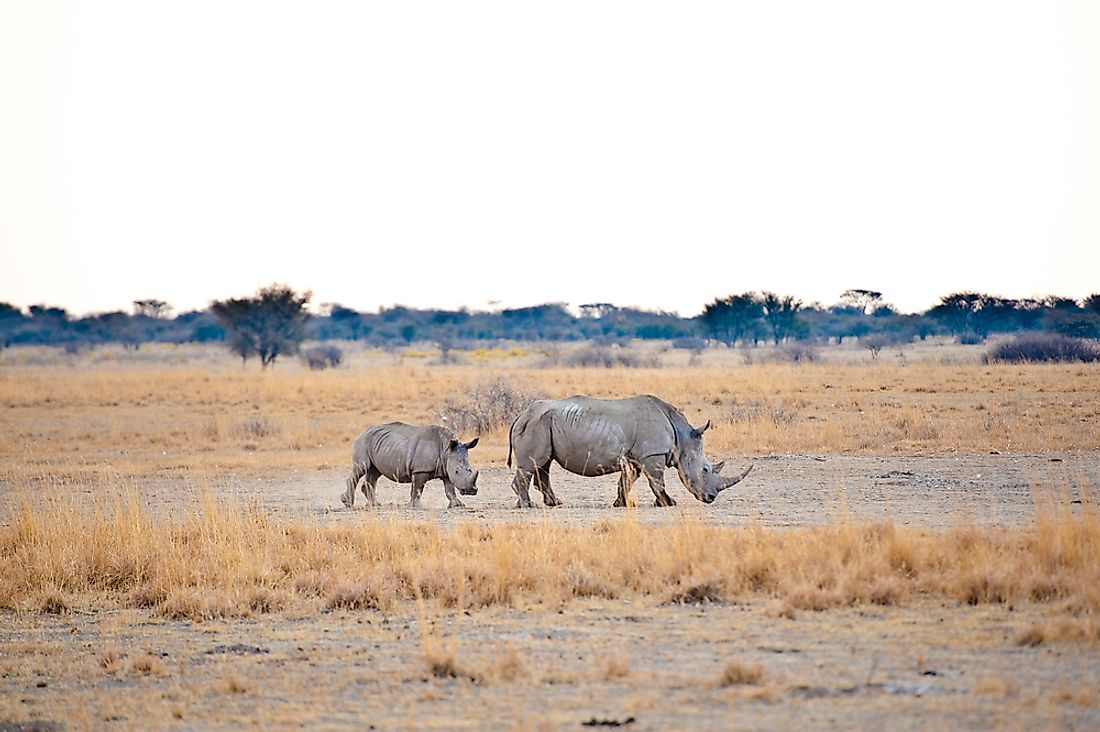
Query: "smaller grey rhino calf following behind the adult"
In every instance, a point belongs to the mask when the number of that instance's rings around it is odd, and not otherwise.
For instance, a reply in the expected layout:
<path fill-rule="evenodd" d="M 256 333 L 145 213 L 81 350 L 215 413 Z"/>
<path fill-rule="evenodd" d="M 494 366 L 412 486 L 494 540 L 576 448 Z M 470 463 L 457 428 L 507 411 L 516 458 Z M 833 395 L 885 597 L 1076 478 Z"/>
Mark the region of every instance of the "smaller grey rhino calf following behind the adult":
<path fill-rule="evenodd" d="M 424 484 L 439 478 L 443 481 L 448 506 L 461 506 L 463 503 L 454 494 L 455 488 L 462 495 L 477 493 L 477 471 L 470 467 L 469 454 L 475 445 L 476 437 L 461 443 L 454 433 L 439 425 L 416 427 L 391 422 L 367 427 L 352 445 L 351 476 L 340 500 L 352 507 L 355 487 L 362 480 L 367 504 L 377 505 L 374 484 L 385 476 L 395 483 L 413 483 L 409 505 L 417 507 Z"/>

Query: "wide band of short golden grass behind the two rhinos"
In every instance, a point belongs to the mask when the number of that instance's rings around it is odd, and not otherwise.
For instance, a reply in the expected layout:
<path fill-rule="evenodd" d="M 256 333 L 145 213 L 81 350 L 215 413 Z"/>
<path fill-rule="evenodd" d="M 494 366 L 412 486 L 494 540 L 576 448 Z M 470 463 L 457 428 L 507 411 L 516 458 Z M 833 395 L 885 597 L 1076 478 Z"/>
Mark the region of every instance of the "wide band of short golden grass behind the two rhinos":
<path fill-rule="evenodd" d="M 0 370 L 0 478 L 344 467 L 367 424 L 439 422 L 452 395 L 505 373 L 549 396 L 657 394 L 712 419 L 708 452 L 1100 449 L 1100 368 L 754 364 L 723 368 L 191 367 Z M 504 463 L 506 428 L 476 462 Z"/>

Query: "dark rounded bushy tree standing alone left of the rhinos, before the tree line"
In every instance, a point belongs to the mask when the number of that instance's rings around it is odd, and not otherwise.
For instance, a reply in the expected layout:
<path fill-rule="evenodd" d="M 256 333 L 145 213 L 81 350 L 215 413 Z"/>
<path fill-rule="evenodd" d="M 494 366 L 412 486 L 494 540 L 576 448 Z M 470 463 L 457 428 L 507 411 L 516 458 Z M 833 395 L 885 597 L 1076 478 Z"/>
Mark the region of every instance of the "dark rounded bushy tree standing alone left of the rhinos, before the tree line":
<path fill-rule="evenodd" d="M 215 301 L 210 312 L 226 329 L 229 349 L 248 360 L 260 357 L 266 369 L 282 353 L 294 353 L 305 338 L 309 314 L 306 304 L 311 293 L 301 295 L 287 285 L 261 288 L 254 297 Z"/>

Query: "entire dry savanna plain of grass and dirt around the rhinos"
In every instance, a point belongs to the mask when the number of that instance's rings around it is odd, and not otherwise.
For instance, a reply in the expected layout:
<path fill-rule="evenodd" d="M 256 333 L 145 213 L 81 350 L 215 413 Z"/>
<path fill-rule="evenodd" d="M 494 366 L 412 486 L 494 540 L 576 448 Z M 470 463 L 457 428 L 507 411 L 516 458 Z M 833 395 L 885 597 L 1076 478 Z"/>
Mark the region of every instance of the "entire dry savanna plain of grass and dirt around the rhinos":
<path fill-rule="evenodd" d="M 1100 369 L 637 356 L 657 368 L 0 353 L 0 724 L 1100 724 Z M 614 477 L 556 469 L 566 504 L 521 512 L 493 427 L 466 509 L 386 481 L 380 510 L 340 506 L 363 426 L 438 422 L 499 376 L 658 394 L 755 470 L 710 506 L 670 471 L 678 506 L 639 481 L 624 511 Z"/>

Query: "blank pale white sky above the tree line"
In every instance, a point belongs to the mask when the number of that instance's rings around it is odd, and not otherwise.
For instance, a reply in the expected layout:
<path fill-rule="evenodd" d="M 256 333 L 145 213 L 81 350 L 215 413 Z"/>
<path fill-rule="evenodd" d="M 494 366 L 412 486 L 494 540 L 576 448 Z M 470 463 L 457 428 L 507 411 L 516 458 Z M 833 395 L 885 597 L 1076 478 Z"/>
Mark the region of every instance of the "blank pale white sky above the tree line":
<path fill-rule="evenodd" d="M 0 301 L 1100 292 L 1100 2 L 0 0 Z"/>

